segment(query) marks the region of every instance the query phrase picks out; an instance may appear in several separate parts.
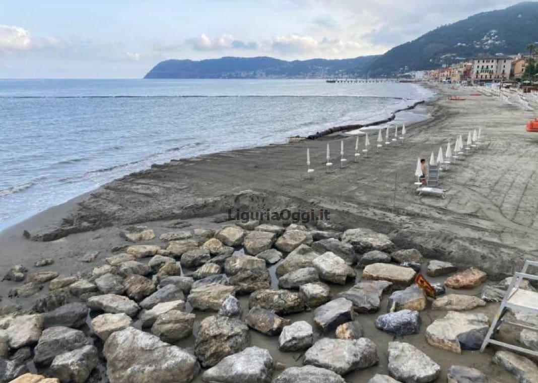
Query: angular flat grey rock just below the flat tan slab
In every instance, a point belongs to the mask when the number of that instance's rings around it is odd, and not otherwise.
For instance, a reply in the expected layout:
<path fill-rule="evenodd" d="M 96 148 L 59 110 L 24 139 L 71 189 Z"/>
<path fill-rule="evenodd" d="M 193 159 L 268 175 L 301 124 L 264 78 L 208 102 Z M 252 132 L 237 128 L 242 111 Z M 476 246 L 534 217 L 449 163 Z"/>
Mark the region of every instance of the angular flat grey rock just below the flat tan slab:
<path fill-rule="evenodd" d="M 381 295 L 391 286 L 392 282 L 388 281 L 361 281 L 338 296 L 350 300 L 357 313 L 376 313 Z"/>

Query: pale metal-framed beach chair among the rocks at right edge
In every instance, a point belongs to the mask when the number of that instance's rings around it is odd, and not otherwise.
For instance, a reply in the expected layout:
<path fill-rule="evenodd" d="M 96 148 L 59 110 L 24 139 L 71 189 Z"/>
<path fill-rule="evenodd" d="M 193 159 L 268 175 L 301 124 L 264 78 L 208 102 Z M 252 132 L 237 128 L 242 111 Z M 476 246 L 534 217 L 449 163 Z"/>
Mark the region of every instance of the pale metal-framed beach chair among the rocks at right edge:
<path fill-rule="evenodd" d="M 514 273 L 514 276 L 512 277 L 512 282 L 510 283 L 510 286 L 508 287 L 508 290 L 506 290 L 506 294 L 502 299 L 499 311 L 497 311 L 497 314 L 493 318 L 493 322 L 491 323 L 490 329 L 487 330 L 487 334 L 484 338 L 484 342 L 482 343 L 482 347 L 480 347 L 480 352 L 483 352 L 486 346 L 491 343 L 497 346 L 506 347 L 507 349 L 511 349 L 516 352 L 523 352 L 538 357 L 538 351 L 529 350 L 525 347 L 519 347 L 513 344 L 495 341 L 495 339 L 491 339 L 493 332 L 495 332 L 502 323 L 511 324 L 515 327 L 527 330 L 538 331 L 538 328 L 532 327 L 529 324 L 508 322 L 504 319 L 504 315 L 508 310 L 523 311 L 527 314 L 538 316 L 538 293 L 525 290 L 519 287 L 523 279 L 538 281 L 538 275 L 527 273 L 529 266 L 538 267 L 538 262 L 526 260 L 521 272 Z"/>

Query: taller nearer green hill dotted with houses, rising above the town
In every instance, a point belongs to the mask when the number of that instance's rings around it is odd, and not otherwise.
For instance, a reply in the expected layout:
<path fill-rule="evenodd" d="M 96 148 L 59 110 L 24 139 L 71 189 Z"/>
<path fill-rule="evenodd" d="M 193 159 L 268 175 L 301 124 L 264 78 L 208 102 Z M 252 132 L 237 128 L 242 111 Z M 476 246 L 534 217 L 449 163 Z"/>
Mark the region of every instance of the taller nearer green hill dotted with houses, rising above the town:
<path fill-rule="evenodd" d="M 366 69 L 370 76 L 441 67 L 479 53 L 518 54 L 538 41 L 538 2 L 477 13 L 392 48 Z"/>

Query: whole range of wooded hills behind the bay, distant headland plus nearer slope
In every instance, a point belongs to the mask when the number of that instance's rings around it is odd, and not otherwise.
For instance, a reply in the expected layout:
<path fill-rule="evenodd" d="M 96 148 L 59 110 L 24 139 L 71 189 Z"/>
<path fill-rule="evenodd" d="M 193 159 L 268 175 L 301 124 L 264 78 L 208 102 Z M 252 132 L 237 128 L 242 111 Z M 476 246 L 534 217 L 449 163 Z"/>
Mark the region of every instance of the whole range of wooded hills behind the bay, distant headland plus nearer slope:
<path fill-rule="evenodd" d="M 399 76 L 451 65 L 477 54 L 518 54 L 538 42 L 538 2 L 477 13 L 443 25 L 383 55 L 342 60 L 285 61 L 271 57 L 223 57 L 159 62 L 145 79 L 323 78 Z"/>

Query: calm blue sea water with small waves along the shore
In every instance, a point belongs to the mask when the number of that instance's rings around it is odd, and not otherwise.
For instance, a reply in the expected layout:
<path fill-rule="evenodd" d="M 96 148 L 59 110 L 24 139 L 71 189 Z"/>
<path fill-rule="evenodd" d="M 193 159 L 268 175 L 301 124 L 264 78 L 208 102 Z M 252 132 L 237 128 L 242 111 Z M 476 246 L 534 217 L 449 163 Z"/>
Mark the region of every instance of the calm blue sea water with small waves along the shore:
<path fill-rule="evenodd" d="M 409 83 L 0 80 L 0 230 L 154 163 L 385 118 L 431 96 Z"/>

